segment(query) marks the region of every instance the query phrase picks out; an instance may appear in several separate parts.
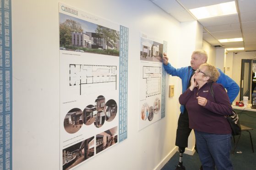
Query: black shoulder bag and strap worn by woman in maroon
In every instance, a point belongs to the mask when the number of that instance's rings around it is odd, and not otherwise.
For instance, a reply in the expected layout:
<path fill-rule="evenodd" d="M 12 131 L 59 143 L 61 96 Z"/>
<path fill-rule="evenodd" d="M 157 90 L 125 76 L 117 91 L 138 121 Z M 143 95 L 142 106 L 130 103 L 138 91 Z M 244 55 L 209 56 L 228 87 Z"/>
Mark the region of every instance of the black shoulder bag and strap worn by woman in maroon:
<path fill-rule="evenodd" d="M 213 83 L 213 82 L 212 82 Z M 215 99 L 214 97 L 214 93 L 212 90 L 212 83 L 211 83 L 211 95 L 212 97 Z M 240 122 L 239 122 L 239 117 L 237 115 L 236 112 L 234 112 L 234 109 L 232 109 L 232 115 L 228 115 L 228 116 L 224 116 L 227 118 L 227 121 L 229 122 L 229 125 L 232 129 L 232 135 L 240 135 L 241 134 L 241 126 L 240 126 Z"/>

